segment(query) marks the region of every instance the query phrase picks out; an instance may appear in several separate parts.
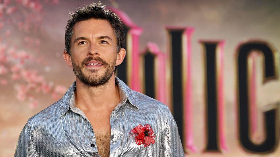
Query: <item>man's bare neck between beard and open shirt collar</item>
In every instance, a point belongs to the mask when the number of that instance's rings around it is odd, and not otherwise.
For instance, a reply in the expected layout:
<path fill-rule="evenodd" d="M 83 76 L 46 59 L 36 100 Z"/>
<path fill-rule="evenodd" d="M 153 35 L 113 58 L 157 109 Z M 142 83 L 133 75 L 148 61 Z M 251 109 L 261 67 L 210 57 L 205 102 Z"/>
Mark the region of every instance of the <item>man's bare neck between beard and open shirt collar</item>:
<path fill-rule="evenodd" d="M 76 84 L 75 102 L 81 110 L 114 108 L 120 102 L 114 74 L 106 84 L 97 87 L 86 86 L 77 76 Z"/>

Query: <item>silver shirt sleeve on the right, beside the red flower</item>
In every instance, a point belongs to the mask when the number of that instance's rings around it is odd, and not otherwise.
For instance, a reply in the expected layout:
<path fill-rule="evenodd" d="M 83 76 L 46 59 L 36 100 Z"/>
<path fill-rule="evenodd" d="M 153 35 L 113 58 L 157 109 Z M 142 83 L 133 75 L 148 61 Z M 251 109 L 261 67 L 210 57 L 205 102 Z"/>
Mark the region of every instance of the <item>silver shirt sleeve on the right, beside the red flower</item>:
<path fill-rule="evenodd" d="M 184 157 L 184 149 L 180 140 L 177 124 L 168 109 L 168 120 L 166 130 L 162 135 L 160 157 Z"/>

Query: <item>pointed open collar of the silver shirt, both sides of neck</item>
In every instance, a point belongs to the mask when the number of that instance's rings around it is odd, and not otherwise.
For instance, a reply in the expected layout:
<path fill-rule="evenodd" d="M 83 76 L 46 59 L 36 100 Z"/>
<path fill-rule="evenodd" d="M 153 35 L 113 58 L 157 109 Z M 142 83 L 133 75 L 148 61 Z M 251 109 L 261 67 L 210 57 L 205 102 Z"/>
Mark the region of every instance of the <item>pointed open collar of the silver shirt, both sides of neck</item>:
<path fill-rule="evenodd" d="M 126 100 L 128 100 L 133 106 L 139 109 L 138 102 L 135 99 L 135 94 L 133 90 L 129 88 L 122 80 L 115 76 L 115 82 L 118 84 L 119 92 L 120 92 L 120 100 L 123 105 Z M 70 86 L 70 88 L 66 91 L 64 96 L 60 100 L 58 116 L 63 116 L 70 108 L 71 99 L 74 95 L 74 91 L 76 89 L 76 81 Z M 74 99 L 75 100 L 75 99 Z"/>

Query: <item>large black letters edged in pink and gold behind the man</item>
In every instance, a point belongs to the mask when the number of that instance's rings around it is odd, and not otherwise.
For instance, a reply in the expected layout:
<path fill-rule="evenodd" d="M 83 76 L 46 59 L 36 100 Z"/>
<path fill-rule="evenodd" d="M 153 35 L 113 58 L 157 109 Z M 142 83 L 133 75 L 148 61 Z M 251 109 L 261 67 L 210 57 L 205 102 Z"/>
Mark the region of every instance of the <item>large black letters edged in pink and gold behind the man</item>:
<path fill-rule="evenodd" d="M 194 28 L 166 26 L 168 52 L 163 53 L 155 43 L 139 51 L 139 36 L 142 29 L 136 26 L 124 12 L 109 8 L 118 14 L 125 24 L 127 56 L 117 69 L 117 76 L 133 90 L 168 105 L 177 122 L 185 151 L 195 151 L 193 144 L 191 39 Z M 200 40 L 203 47 L 204 99 L 205 99 L 205 152 L 228 150 L 224 130 L 223 94 L 223 40 Z M 260 39 L 249 40 L 236 46 L 236 108 L 238 140 L 244 151 L 254 154 L 269 154 L 279 144 L 279 104 L 269 106 L 263 112 L 264 139 L 254 142 L 256 134 L 256 57 L 263 62 L 263 84 L 278 80 L 279 56 L 269 43 Z M 147 104 L 148 105 L 148 104 Z"/>

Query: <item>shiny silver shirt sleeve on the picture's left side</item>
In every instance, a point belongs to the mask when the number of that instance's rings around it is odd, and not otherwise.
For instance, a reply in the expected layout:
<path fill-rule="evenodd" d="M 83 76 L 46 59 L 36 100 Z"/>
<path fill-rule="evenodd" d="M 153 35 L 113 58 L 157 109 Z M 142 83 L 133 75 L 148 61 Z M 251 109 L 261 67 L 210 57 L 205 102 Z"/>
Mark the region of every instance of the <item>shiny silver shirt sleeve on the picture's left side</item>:
<path fill-rule="evenodd" d="M 34 148 L 30 126 L 25 124 L 15 148 L 15 157 L 37 157 L 39 156 Z"/>

